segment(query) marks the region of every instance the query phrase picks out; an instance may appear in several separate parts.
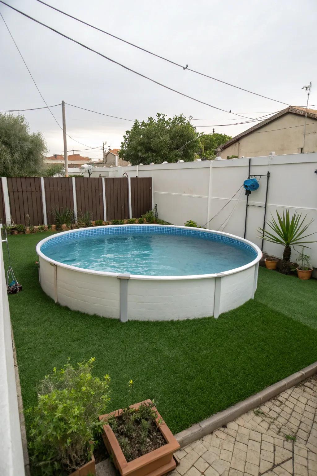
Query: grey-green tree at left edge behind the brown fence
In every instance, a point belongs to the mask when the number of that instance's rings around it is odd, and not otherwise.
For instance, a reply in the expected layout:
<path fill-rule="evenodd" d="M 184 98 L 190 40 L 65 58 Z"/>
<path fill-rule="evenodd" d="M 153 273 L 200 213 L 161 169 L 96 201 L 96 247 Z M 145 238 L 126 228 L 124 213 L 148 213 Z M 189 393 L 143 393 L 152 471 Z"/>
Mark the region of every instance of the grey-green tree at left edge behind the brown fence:
<path fill-rule="evenodd" d="M 47 151 L 42 133 L 30 133 L 24 116 L 0 114 L 0 177 L 45 175 Z"/>

